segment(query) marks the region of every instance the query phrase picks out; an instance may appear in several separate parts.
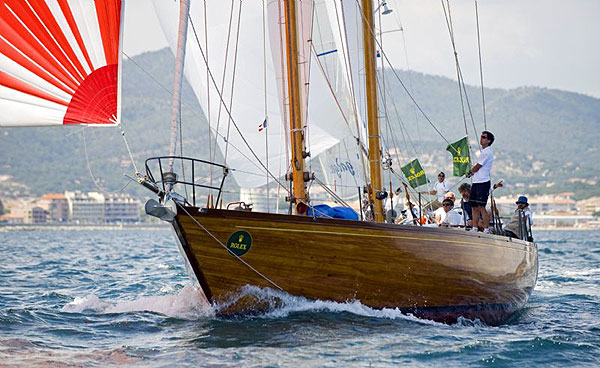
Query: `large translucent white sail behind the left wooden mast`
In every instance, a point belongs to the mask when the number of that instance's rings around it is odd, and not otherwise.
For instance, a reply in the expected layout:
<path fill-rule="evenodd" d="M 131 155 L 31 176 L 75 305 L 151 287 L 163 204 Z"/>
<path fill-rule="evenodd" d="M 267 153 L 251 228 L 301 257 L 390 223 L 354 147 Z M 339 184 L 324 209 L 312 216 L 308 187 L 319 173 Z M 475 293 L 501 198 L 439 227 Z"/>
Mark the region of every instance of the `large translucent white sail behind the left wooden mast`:
<path fill-rule="evenodd" d="M 276 1 L 276 0 L 275 0 Z M 154 0 L 156 14 L 160 20 L 171 50 L 175 50 L 177 44 L 177 19 L 179 6 L 176 2 Z M 225 57 L 227 44 L 227 33 L 229 28 L 229 17 L 231 6 L 233 9 L 233 21 L 231 29 L 231 40 L 229 55 Z M 233 79 L 233 64 L 235 58 L 236 31 L 239 14 L 239 1 L 234 2 L 207 2 L 207 28 L 208 28 L 208 55 L 209 68 L 212 73 L 218 91 L 211 78 L 207 79 L 207 66 L 202 56 L 200 46 L 204 55 L 204 8 L 200 2 L 192 2 L 190 17 L 193 24 L 188 28 L 188 41 L 185 60 L 185 75 L 190 82 L 200 105 L 205 114 L 210 110 L 212 129 L 217 131 L 217 143 L 221 152 L 227 150 L 227 165 L 234 169 L 233 176 L 242 188 L 254 188 L 265 185 L 267 181 L 273 180 L 268 177 L 265 167 L 278 175 L 278 168 L 288 167 L 287 148 L 282 136 L 287 134 L 287 121 L 285 115 L 286 98 L 284 95 L 283 80 L 281 79 L 281 54 L 273 53 L 279 50 L 281 26 L 277 14 L 267 11 L 267 52 L 263 57 L 263 4 L 261 1 L 245 1 L 241 3 L 241 21 L 237 51 L 237 66 L 235 80 Z M 267 8 L 273 5 L 269 2 Z M 274 3 L 277 6 L 277 3 Z M 304 10 L 304 8 L 303 8 Z M 304 11 L 303 13 L 306 13 Z M 274 23 L 274 24 L 273 24 Z M 306 24 L 306 23 L 301 23 Z M 194 35 L 196 30 L 198 39 Z M 275 39 L 275 41 L 273 41 Z M 198 45 L 200 42 L 200 46 Z M 274 63 L 277 63 L 275 66 Z M 267 69 L 266 91 L 264 88 L 264 68 Z M 224 68 L 226 71 L 224 73 Z M 314 68 L 313 68 L 314 69 Z M 225 83 L 221 88 L 221 80 L 225 75 Z M 320 75 L 320 77 L 319 77 Z M 233 96 L 232 96 L 232 82 Z M 210 109 L 207 102 L 207 86 L 210 89 Z M 308 142 L 312 155 L 318 155 L 327 148 L 339 142 L 341 132 L 336 129 L 328 129 L 320 122 L 337 119 L 335 111 L 335 100 L 326 89 L 324 77 L 320 73 L 311 73 L 310 93 L 308 98 L 308 121 L 310 124 Z M 323 92 L 318 92 L 319 90 Z M 221 98 L 229 106 L 232 121 L 223 107 Z M 259 131 L 260 124 L 265 120 L 265 93 L 267 96 L 267 122 L 268 129 Z M 281 98 L 281 99 L 280 99 Z M 230 105 L 231 102 L 231 105 Z M 219 110 L 221 110 L 219 116 Z M 310 123 L 317 122 L 316 124 Z M 234 127 L 237 124 L 239 131 Z M 218 127 L 217 127 L 218 125 Z M 214 131 L 213 130 L 213 131 Z M 229 134 L 228 134 L 229 130 Z M 241 134 L 240 134 L 241 133 Z M 268 134 L 268 157 L 265 142 L 265 134 Z M 228 137 L 227 141 L 224 139 Z M 228 144 L 229 143 L 229 146 Z M 251 147 L 251 149 L 250 149 Z M 261 164 L 262 163 L 262 164 Z M 235 171 L 239 170 L 239 171 Z"/>

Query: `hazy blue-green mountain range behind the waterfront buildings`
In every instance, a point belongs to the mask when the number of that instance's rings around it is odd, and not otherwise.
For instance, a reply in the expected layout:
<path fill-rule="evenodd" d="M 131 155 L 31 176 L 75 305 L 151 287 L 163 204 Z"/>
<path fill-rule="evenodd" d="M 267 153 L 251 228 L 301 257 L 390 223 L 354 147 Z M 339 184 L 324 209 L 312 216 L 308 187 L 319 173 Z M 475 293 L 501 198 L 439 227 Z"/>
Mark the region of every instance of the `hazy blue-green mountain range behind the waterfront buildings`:
<path fill-rule="evenodd" d="M 144 53 L 123 63 L 122 127 L 140 170 L 146 158 L 168 153 L 172 66 L 168 49 Z M 418 156 L 430 177 L 439 170 L 451 171 L 444 138 L 452 142 L 465 135 L 456 81 L 396 71 L 442 138 L 416 110 L 396 75 L 391 70 L 384 75 L 389 123 L 384 121 L 382 136 L 387 145 L 398 146 L 401 157 Z M 479 134 L 483 130 L 481 90 L 474 86 L 466 89 Z M 496 178 L 504 178 L 518 188 L 514 191 L 527 194 L 565 190 L 574 191 L 580 198 L 600 194 L 599 99 L 537 87 L 485 89 L 485 96 L 487 128 L 496 135 Z M 187 83 L 182 121 L 184 154 L 208 158 L 207 124 Z M 473 139 L 470 120 L 467 128 Z M 405 144 L 403 129 L 412 143 L 407 139 Z M 86 149 L 89 168 L 101 187 L 118 191 L 129 182 L 123 174 L 131 175 L 133 169 L 119 129 L 0 129 L 0 194 L 97 190 L 88 170 Z M 222 158 L 217 156 L 217 161 Z M 124 190 L 147 194 L 135 184 Z"/>

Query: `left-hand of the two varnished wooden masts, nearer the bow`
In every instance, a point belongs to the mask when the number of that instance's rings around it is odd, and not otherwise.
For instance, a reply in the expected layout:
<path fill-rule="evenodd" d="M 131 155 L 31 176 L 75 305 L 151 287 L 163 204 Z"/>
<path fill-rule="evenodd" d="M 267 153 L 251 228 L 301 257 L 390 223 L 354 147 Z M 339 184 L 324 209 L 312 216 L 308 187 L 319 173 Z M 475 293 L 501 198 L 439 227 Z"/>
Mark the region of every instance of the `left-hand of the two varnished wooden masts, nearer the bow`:
<path fill-rule="evenodd" d="M 292 198 L 290 201 L 296 203 L 296 214 L 304 214 L 298 204 L 306 203 L 306 181 L 304 174 L 304 122 L 302 121 L 301 98 L 300 98 L 300 76 L 298 72 L 298 34 L 296 27 L 296 0 L 284 0 L 285 12 L 285 39 L 287 55 L 287 80 L 290 108 L 290 135 L 291 135 L 291 175 Z"/>

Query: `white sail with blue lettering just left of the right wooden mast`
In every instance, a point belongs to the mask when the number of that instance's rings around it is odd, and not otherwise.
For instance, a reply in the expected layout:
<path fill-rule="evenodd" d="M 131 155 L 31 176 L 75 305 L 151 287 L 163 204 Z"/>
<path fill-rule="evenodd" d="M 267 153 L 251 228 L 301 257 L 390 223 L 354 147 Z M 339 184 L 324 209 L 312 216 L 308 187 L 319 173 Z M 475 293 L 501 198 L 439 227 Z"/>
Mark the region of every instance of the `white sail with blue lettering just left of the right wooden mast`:
<path fill-rule="evenodd" d="M 359 11 L 353 0 L 315 1 L 313 44 L 319 66 L 330 82 L 348 129 L 348 133 L 340 137 L 340 143 L 318 158 L 326 182 L 343 199 L 357 197 L 358 188 L 365 184 L 366 178 L 367 163 L 357 144 L 358 139 L 367 141 L 364 96 L 360 93 L 362 34 Z"/>

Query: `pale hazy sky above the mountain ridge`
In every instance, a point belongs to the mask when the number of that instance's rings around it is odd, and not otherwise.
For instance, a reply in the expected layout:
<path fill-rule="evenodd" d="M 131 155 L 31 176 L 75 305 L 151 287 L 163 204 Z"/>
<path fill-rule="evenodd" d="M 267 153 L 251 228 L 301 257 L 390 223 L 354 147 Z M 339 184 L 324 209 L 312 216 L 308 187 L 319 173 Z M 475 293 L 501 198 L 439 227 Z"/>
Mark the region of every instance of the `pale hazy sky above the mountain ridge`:
<path fill-rule="evenodd" d="M 456 79 L 441 1 L 388 4 L 394 11 L 384 17 L 384 31 L 402 23 L 410 68 Z M 479 84 L 474 0 L 450 6 L 465 80 Z M 541 86 L 600 97 L 600 0 L 479 0 L 478 6 L 486 87 Z M 166 47 L 150 0 L 126 0 L 125 12 L 126 53 Z M 386 33 L 384 49 L 394 66 L 406 69 L 400 32 Z"/>

